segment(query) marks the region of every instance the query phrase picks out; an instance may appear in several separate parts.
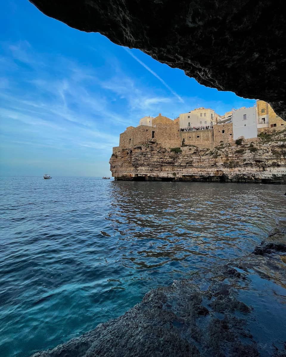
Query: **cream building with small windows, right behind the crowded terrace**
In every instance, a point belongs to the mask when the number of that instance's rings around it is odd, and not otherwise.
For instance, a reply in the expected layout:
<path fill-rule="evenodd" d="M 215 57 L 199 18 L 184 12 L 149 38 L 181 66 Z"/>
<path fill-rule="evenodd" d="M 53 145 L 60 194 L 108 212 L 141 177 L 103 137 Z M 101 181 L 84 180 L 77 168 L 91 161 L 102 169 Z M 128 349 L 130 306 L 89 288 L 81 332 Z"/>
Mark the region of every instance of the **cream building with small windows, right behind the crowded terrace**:
<path fill-rule="evenodd" d="M 187 126 L 213 126 L 221 120 L 221 116 L 210 108 L 197 108 L 179 115 L 180 128 Z"/>

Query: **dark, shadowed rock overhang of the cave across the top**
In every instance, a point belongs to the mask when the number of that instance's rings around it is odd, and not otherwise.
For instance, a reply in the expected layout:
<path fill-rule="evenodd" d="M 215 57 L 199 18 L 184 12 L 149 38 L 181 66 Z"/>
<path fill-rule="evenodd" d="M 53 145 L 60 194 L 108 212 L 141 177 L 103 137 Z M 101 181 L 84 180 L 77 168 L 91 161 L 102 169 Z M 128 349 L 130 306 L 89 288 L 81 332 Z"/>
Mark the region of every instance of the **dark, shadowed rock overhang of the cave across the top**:
<path fill-rule="evenodd" d="M 31 1 L 31 0 L 30 0 Z M 271 0 L 33 0 L 44 14 L 142 50 L 286 118 L 286 16 Z"/>

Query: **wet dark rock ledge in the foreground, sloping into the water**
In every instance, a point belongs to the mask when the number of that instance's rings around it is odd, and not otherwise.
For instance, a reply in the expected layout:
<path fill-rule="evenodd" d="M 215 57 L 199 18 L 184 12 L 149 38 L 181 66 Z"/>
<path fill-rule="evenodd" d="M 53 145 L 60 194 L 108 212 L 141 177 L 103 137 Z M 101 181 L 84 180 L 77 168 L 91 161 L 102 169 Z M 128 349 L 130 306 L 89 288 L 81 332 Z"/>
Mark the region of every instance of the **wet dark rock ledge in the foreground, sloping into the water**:
<path fill-rule="evenodd" d="M 286 355 L 286 243 L 281 222 L 258 251 L 148 292 L 125 315 L 33 357 Z"/>

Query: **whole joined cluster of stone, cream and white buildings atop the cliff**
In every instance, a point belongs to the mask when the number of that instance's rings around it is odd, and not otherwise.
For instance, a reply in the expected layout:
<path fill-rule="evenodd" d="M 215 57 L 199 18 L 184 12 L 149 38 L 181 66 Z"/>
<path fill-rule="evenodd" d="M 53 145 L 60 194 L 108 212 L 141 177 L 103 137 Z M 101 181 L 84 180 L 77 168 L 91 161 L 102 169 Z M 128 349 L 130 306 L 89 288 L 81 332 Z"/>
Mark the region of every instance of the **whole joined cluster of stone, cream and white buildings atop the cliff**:
<path fill-rule="evenodd" d="M 242 107 L 226 112 L 220 116 L 212 109 L 203 107 L 180 114 L 172 120 L 159 113 L 156 117 L 144 116 L 137 127 L 129 126 L 120 134 L 119 149 L 132 149 L 135 146 L 159 144 L 163 148 L 193 145 L 199 148 L 212 149 L 224 143 L 244 136 L 254 139 L 257 132 L 268 128 L 281 128 L 286 122 L 275 114 L 271 106 L 261 100 L 253 107 Z M 180 131 L 184 127 L 213 125 L 213 129 Z M 265 128 L 265 129 L 264 129 Z"/>

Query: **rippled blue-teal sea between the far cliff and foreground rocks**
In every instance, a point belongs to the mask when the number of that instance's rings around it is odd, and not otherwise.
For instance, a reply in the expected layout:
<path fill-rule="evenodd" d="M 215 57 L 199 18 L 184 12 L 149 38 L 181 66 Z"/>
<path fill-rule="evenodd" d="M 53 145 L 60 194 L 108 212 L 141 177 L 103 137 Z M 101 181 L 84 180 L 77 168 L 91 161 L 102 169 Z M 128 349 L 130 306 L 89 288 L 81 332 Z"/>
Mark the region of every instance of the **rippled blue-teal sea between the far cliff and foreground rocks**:
<path fill-rule="evenodd" d="M 25 357 L 249 253 L 285 186 L 1 177 L 0 351 Z"/>

